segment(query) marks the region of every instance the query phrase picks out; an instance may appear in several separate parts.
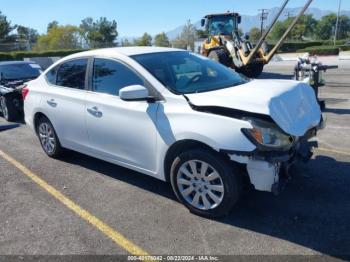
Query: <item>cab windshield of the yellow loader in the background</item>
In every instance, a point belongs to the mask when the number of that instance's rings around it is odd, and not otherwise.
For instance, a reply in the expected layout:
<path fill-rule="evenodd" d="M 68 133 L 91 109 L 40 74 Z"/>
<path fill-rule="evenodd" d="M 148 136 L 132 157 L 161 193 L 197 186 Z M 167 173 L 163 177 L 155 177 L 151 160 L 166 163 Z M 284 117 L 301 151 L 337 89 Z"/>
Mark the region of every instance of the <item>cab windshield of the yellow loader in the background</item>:
<path fill-rule="evenodd" d="M 215 16 L 209 21 L 210 35 L 232 35 L 235 28 L 235 20 L 232 16 Z"/>

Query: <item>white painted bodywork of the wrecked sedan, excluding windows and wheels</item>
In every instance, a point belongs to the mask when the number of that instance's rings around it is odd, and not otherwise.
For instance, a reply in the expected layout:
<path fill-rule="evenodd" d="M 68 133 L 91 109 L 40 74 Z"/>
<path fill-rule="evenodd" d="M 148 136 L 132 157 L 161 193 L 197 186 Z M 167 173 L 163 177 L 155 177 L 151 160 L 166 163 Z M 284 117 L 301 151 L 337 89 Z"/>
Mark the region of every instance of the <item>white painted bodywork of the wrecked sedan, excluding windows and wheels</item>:
<path fill-rule="evenodd" d="M 171 93 L 129 57 L 166 51 L 174 49 L 101 49 L 58 61 L 29 83 L 30 91 L 24 103 L 26 123 L 34 127 L 35 114 L 43 113 L 52 122 L 62 146 L 161 180 L 166 180 L 166 154 L 179 141 L 198 141 L 216 151 L 253 152 L 256 146 L 241 132 L 242 128 L 252 128 L 248 121 L 193 110 L 184 96 Z M 127 64 L 142 75 L 162 99 L 155 103 L 127 102 L 116 96 L 48 84 L 45 74 L 53 67 L 82 57 L 115 59 Z M 293 81 L 256 80 L 188 97 L 191 103 L 199 106 L 220 106 L 270 115 L 287 133 L 302 136 L 317 126 L 321 118 L 315 95 L 311 92 L 310 87 Z M 57 103 L 56 107 L 48 105 L 51 99 Z M 88 113 L 88 109 L 94 107 L 102 113 L 100 117 Z M 236 158 L 231 156 L 232 160 Z"/>

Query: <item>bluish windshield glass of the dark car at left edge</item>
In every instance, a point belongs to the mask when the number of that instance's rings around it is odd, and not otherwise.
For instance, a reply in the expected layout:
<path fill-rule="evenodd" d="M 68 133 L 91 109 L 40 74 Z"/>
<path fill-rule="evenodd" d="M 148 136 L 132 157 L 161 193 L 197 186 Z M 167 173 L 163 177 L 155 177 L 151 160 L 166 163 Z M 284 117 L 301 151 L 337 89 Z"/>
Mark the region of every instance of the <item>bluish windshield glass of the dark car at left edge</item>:
<path fill-rule="evenodd" d="M 23 80 L 37 78 L 41 74 L 37 64 L 0 65 L 1 80 Z"/>

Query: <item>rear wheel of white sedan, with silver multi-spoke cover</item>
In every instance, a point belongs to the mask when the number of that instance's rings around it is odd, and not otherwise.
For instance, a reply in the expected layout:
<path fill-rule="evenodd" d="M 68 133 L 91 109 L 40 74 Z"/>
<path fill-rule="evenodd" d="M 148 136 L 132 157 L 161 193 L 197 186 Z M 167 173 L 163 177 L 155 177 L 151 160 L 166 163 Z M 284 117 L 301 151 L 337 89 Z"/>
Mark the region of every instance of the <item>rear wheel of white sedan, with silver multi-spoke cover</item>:
<path fill-rule="evenodd" d="M 41 117 L 38 120 L 36 130 L 44 152 L 51 158 L 60 157 L 63 153 L 63 148 L 50 120 L 44 116 Z"/>

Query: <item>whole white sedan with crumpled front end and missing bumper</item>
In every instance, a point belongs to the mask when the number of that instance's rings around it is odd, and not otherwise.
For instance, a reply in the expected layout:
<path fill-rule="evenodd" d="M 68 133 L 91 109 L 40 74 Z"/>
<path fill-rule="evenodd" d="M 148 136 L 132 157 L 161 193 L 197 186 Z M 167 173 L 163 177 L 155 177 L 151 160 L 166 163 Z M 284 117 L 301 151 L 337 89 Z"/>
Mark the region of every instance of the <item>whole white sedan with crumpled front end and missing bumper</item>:
<path fill-rule="evenodd" d="M 71 55 L 23 94 L 48 156 L 71 149 L 170 182 L 207 217 L 228 214 L 245 184 L 276 192 L 322 122 L 305 83 L 250 80 L 171 48 Z"/>

